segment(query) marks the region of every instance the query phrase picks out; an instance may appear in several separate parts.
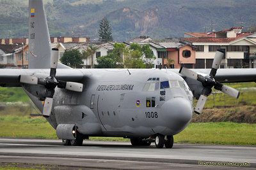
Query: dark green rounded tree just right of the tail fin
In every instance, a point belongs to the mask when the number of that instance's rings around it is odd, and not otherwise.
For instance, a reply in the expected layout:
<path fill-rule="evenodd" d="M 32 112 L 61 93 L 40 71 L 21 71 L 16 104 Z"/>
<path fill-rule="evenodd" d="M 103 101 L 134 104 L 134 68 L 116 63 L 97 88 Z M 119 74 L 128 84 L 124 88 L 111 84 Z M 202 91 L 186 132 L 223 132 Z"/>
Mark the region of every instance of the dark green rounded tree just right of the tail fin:
<path fill-rule="evenodd" d="M 69 50 L 63 53 L 60 59 L 61 63 L 70 67 L 79 67 L 83 64 L 83 56 L 79 50 Z"/>

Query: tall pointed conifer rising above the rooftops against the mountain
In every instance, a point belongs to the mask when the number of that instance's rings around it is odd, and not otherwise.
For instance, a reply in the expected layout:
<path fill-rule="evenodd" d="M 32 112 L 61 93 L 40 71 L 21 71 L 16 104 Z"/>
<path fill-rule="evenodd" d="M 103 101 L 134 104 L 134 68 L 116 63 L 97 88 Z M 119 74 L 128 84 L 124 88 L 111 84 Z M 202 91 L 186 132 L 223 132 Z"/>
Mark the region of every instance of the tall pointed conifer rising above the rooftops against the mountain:
<path fill-rule="evenodd" d="M 100 41 L 108 42 L 113 41 L 112 37 L 112 29 L 109 26 L 109 21 L 106 17 L 104 17 L 100 22 L 100 28 L 99 28 L 99 37 Z"/>

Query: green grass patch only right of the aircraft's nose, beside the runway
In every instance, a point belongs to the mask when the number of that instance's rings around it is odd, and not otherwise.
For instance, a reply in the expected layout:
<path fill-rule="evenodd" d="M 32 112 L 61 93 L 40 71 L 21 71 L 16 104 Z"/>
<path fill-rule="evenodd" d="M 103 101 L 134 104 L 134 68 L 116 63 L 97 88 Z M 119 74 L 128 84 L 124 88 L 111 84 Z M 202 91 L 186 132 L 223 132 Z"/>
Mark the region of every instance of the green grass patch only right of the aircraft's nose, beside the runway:
<path fill-rule="evenodd" d="M 256 145 L 256 124 L 232 122 L 191 123 L 174 136 L 177 143 Z"/>

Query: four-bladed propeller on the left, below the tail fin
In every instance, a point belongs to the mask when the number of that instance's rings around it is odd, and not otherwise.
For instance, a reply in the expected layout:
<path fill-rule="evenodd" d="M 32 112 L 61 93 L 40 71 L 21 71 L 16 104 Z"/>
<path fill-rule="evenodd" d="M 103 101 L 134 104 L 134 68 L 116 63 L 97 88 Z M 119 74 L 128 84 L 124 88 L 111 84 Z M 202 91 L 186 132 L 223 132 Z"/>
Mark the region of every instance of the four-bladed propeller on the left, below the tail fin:
<path fill-rule="evenodd" d="M 55 88 L 67 89 L 74 92 L 83 91 L 83 83 L 72 81 L 56 80 L 56 68 L 58 66 L 58 48 L 52 48 L 51 51 L 51 71 L 47 78 L 37 78 L 36 76 L 20 75 L 20 83 L 44 85 L 46 88 L 43 116 L 49 117 L 52 111 L 53 96 Z"/>

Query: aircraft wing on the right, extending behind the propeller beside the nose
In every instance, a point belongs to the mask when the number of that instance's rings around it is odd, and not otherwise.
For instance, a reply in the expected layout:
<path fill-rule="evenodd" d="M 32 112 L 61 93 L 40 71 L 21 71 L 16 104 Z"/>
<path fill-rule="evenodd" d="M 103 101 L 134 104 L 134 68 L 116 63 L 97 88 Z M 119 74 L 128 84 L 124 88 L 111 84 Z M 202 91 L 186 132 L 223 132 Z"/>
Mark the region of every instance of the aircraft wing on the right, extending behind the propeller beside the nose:
<path fill-rule="evenodd" d="M 209 74 L 211 69 L 191 69 L 199 74 Z M 179 69 L 173 69 L 173 72 L 179 74 Z M 180 76 L 184 77 L 182 74 Z M 218 69 L 216 81 L 220 83 L 238 83 L 238 82 L 256 82 L 256 69 Z"/>

